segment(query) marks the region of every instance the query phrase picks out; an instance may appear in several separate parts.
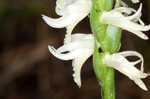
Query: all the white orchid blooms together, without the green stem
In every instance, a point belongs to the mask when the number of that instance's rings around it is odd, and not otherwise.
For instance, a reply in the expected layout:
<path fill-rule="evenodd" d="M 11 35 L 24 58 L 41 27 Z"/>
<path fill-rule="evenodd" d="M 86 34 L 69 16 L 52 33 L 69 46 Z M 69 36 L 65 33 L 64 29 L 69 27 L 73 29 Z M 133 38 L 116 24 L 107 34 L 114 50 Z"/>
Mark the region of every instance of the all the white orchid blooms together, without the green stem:
<path fill-rule="evenodd" d="M 138 3 L 139 0 L 131 0 L 133 3 Z M 118 2 L 118 0 L 116 0 Z M 73 60 L 73 77 L 76 84 L 81 87 L 80 72 L 84 62 L 94 52 L 94 37 L 92 34 L 75 33 L 71 35 L 74 27 L 90 14 L 92 0 L 57 0 L 56 13 L 60 18 L 50 18 L 42 15 L 44 21 L 53 28 L 66 28 L 66 36 L 64 45 L 58 49 L 48 46 L 49 51 L 61 60 Z M 127 30 L 142 39 L 148 39 L 143 31 L 150 30 L 150 25 L 145 25 L 141 20 L 142 4 L 138 10 L 130 8 L 121 1 L 121 7 L 114 8 L 111 11 L 103 12 L 99 20 L 103 24 L 111 24 Z M 99 47 L 101 46 L 98 44 Z M 64 53 L 66 52 L 66 53 Z M 139 60 L 130 62 L 127 56 L 137 56 Z M 145 84 L 141 80 L 149 74 L 144 73 L 143 56 L 135 51 L 124 51 L 114 54 L 105 54 L 103 62 L 133 80 L 140 88 L 147 90 Z M 141 69 L 135 67 L 141 63 Z"/>

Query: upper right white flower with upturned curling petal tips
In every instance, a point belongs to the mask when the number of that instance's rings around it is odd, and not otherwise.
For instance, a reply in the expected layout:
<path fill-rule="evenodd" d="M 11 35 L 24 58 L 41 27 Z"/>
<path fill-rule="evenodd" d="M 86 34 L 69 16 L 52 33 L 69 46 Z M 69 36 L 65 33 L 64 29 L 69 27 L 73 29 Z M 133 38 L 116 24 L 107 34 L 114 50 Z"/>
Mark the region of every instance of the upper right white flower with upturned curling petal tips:
<path fill-rule="evenodd" d="M 128 7 L 115 8 L 109 12 L 103 12 L 100 21 L 104 24 L 112 24 L 124 30 L 132 32 L 142 39 L 148 39 L 143 31 L 150 30 L 150 25 L 144 25 L 141 21 L 142 4 L 135 12 L 134 9 Z M 133 15 L 131 13 L 135 12 Z M 130 16 L 129 16 L 130 15 Z"/>

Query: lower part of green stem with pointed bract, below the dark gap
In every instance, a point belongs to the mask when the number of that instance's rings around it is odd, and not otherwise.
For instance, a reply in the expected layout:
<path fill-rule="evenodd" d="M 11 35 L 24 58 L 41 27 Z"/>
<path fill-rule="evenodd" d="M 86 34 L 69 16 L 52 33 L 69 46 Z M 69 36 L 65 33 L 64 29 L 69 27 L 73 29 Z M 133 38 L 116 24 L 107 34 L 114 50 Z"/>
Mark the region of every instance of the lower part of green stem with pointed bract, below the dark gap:
<path fill-rule="evenodd" d="M 104 55 L 104 53 L 99 53 L 97 46 L 95 46 L 93 55 L 94 71 L 102 87 L 102 99 L 115 99 L 114 70 L 103 63 Z"/>

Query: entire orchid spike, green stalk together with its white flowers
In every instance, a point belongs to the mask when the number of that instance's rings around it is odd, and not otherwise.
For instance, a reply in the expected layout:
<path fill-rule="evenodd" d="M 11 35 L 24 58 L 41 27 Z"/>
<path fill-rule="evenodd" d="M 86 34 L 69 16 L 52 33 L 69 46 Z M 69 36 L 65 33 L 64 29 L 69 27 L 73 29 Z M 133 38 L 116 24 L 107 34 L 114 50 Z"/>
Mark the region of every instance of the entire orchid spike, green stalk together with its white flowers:
<path fill-rule="evenodd" d="M 103 99 L 115 99 L 114 69 L 147 91 L 141 79 L 150 74 L 144 73 L 143 56 L 136 51 L 119 52 L 122 29 L 144 40 L 148 39 L 143 32 L 150 30 L 150 25 L 145 25 L 140 19 L 141 10 L 142 4 L 135 10 L 121 0 L 57 0 L 55 11 L 60 18 L 45 15 L 42 15 L 42 18 L 53 28 L 66 28 L 66 36 L 64 45 L 58 49 L 49 45 L 49 51 L 61 60 L 72 60 L 73 79 L 79 88 L 82 85 L 80 76 L 82 66 L 93 55 L 93 68 L 102 89 Z M 89 14 L 93 35 L 71 34 L 74 27 Z M 126 58 L 128 56 L 136 56 L 138 60 L 129 61 Z M 139 63 L 140 69 L 135 67 Z"/>

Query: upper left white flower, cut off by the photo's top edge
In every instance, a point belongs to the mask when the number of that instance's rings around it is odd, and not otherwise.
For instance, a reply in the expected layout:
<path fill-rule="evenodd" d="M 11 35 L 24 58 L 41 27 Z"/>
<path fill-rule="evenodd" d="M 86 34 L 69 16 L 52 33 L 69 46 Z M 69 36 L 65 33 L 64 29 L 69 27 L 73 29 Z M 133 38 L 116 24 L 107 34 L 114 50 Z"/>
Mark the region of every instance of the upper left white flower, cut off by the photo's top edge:
<path fill-rule="evenodd" d="M 91 6 L 91 0 L 57 0 L 56 13 L 61 17 L 50 18 L 42 15 L 42 18 L 51 27 L 66 27 L 67 34 L 64 42 L 67 43 L 71 41 L 73 28 L 89 14 Z"/>

